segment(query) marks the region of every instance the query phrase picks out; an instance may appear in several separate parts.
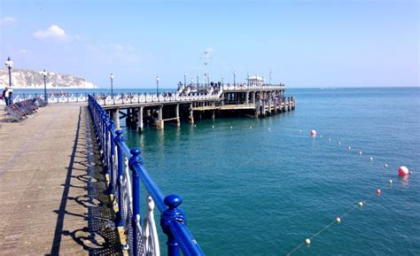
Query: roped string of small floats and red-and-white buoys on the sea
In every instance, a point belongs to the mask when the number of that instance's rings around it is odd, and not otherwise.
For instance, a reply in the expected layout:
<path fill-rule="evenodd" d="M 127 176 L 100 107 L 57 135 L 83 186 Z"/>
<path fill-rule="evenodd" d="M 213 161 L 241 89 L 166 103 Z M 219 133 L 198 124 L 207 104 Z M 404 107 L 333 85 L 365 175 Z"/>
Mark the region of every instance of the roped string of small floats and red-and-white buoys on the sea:
<path fill-rule="evenodd" d="M 299 130 L 299 134 L 301 134 L 301 130 Z M 316 136 L 316 130 L 311 130 L 311 132 L 310 132 L 310 135 L 311 135 L 311 137 L 315 137 Z M 322 137 L 321 135 L 320 135 L 320 137 Z M 331 142 L 331 138 L 328 138 L 328 141 L 329 142 Z M 338 146 L 340 146 L 340 142 L 337 142 L 337 145 Z M 348 151 L 351 151 L 352 150 L 352 147 L 349 145 L 349 146 L 347 146 L 347 150 Z M 359 156 L 362 156 L 362 151 L 359 151 Z M 373 157 L 372 156 L 370 156 L 369 157 L 369 160 L 370 160 L 370 162 L 372 162 L 373 161 Z M 388 168 L 388 165 L 387 164 L 385 164 L 384 165 L 384 167 L 385 168 Z M 399 167 L 398 168 L 398 175 L 400 176 L 400 177 L 407 177 L 408 175 L 411 175 L 412 174 L 412 172 L 408 169 L 408 167 L 405 167 L 405 166 L 401 166 L 401 167 Z M 388 182 L 387 182 L 387 184 L 388 184 L 388 186 L 387 187 L 390 187 L 390 186 L 392 186 L 392 184 L 393 184 L 393 180 L 389 180 Z M 354 212 L 354 210 L 356 210 L 357 208 L 362 208 L 371 198 L 373 198 L 373 197 L 375 197 L 375 196 L 377 196 L 377 197 L 379 197 L 379 196 L 381 196 L 381 194 L 382 194 L 382 191 L 385 189 L 385 187 L 384 186 L 382 186 L 382 187 L 379 187 L 379 188 L 377 188 L 376 190 L 375 190 L 375 192 L 374 193 L 372 193 L 368 198 L 365 198 L 364 200 L 362 200 L 362 201 L 359 201 L 359 202 L 357 202 L 357 204 L 355 204 L 354 206 L 352 206 L 348 211 L 346 211 L 345 213 L 342 213 L 342 214 L 340 214 L 340 215 L 338 215 L 338 217 L 336 217 L 336 219 L 335 220 L 333 220 L 333 221 L 330 221 L 326 226 L 324 226 L 323 227 L 323 229 L 319 229 L 317 232 L 315 232 L 312 236 L 310 236 L 310 237 L 307 237 L 303 242 L 301 242 L 300 244 L 298 244 L 296 247 L 294 247 L 293 249 L 292 249 L 292 251 L 290 251 L 290 252 L 288 252 L 286 255 L 287 256 L 289 256 L 289 255 L 292 255 L 292 253 L 293 252 L 296 252 L 301 246 L 303 246 L 303 245 L 307 245 L 307 246 L 309 246 L 310 244 L 311 244 L 311 242 L 312 242 L 312 239 L 314 238 L 314 237 L 316 237 L 316 236 L 318 236 L 318 235 L 320 235 L 321 233 L 323 233 L 323 231 L 325 231 L 326 229 L 329 229 L 329 228 L 331 228 L 331 226 L 333 225 L 333 224 L 339 224 L 340 222 L 341 222 L 341 220 L 343 219 L 343 218 L 345 218 L 349 213 L 352 213 L 352 212 Z"/>

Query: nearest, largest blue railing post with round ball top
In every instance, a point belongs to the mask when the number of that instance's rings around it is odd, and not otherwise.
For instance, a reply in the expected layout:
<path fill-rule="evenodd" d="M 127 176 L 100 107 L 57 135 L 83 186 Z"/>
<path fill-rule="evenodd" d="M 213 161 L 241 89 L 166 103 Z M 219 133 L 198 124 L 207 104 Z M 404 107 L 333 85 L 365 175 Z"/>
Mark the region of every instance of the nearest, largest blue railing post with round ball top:
<path fill-rule="evenodd" d="M 167 210 L 163 212 L 160 217 L 160 226 L 162 227 L 163 232 L 167 235 L 167 255 L 179 256 L 180 247 L 178 242 L 176 242 L 171 229 L 169 229 L 169 224 L 172 221 L 182 221 L 186 224 L 183 210 L 177 208 L 183 203 L 183 198 L 178 195 L 169 195 L 163 200 L 163 202 L 167 206 Z"/>

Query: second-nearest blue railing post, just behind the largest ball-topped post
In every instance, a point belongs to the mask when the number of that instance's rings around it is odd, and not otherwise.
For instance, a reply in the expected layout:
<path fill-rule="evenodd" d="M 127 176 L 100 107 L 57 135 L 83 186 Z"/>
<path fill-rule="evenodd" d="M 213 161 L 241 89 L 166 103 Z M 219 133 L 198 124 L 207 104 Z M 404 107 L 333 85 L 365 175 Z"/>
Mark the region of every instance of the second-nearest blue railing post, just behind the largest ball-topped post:
<path fill-rule="evenodd" d="M 135 166 L 143 165 L 143 160 L 139 157 L 140 149 L 129 151 L 133 156 L 129 159 L 129 167 L 133 173 L 133 216 L 131 226 L 133 229 L 133 255 L 139 255 L 137 244 L 141 234 L 138 233 L 137 225 L 140 225 L 140 174 L 137 173 Z"/>

